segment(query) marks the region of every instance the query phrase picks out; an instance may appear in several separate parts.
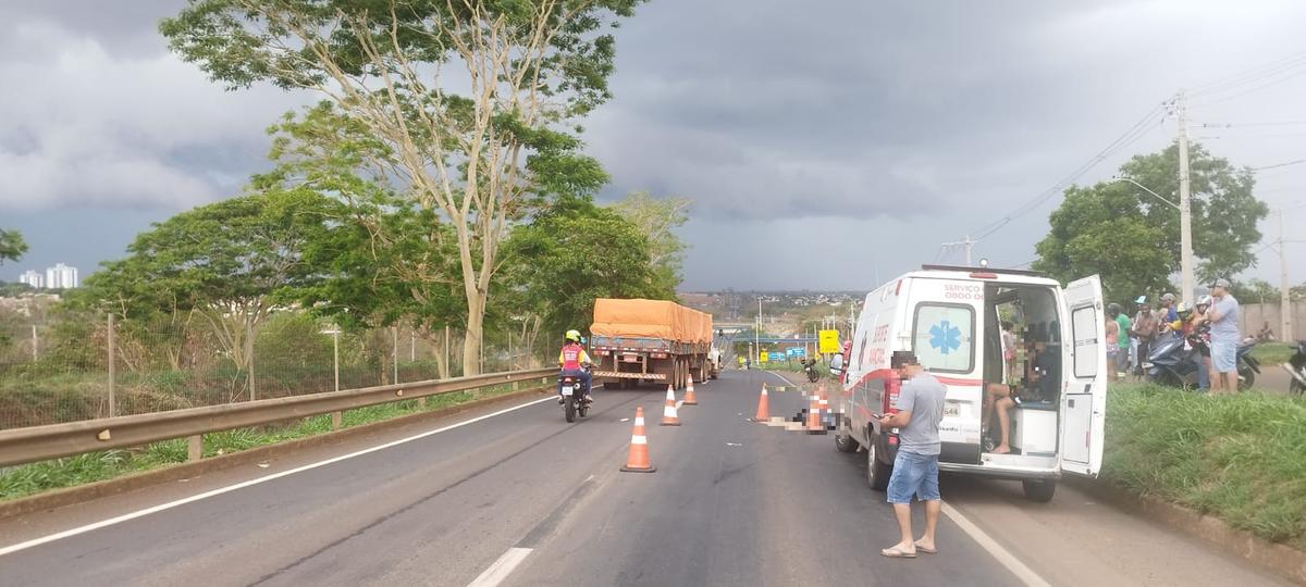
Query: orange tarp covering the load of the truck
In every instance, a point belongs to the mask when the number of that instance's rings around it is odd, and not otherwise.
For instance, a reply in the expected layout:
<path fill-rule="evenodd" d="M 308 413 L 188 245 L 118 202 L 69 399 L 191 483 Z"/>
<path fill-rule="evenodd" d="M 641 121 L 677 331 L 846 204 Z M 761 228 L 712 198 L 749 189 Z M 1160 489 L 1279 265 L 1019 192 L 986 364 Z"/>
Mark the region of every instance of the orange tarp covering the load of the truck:
<path fill-rule="evenodd" d="M 712 342 L 712 314 L 666 300 L 594 300 L 596 337 L 661 338 L 687 343 Z"/>

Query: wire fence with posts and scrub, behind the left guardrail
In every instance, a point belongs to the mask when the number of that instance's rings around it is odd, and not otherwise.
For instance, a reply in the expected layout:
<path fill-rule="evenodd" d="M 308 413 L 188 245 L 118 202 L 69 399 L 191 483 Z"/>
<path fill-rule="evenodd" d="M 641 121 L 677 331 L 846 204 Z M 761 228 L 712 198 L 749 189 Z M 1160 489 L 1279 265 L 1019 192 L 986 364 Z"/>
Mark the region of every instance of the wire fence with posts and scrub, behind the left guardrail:
<path fill-rule="evenodd" d="M 456 329 L 342 330 L 295 310 L 227 322 L 0 307 L 0 429 L 464 374 Z M 517 333 L 485 337 L 482 373 L 542 364 Z"/>

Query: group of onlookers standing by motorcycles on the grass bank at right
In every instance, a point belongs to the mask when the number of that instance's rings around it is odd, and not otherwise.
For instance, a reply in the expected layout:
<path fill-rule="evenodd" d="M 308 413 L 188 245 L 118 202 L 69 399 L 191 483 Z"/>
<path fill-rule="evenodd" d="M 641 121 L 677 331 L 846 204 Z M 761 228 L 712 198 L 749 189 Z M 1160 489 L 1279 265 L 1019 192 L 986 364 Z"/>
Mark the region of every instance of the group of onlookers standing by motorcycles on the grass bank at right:
<path fill-rule="evenodd" d="M 1238 389 L 1238 300 L 1229 294 L 1229 282 L 1216 279 L 1211 295 L 1198 299 L 1192 308 L 1175 303 L 1174 294 L 1165 294 L 1153 307 L 1147 296 L 1134 300 L 1132 318 L 1119 304 L 1107 305 L 1106 344 L 1111 380 L 1132 373 L 1145 377 L 1143 363 L 1161 337 L 1182 337 L 1185 350 L 1195 350 L 1198 387 L 1212 393 L 1234 393 Z"/>

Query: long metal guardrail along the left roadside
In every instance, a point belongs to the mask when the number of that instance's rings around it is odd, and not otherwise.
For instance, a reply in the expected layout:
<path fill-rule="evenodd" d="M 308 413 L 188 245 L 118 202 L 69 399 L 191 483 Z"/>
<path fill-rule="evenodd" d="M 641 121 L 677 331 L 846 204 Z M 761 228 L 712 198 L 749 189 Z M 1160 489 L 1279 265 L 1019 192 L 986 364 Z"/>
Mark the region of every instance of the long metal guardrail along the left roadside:
<path fill-rule="evenodd" d="M 0 467 L 72 457 L 106 449 L 141 446 L 172 438 L 199 437 L 209 432 L 248 428 L 354 410 L 405 399 L 468 391 L 492 385 L 545 380 L 558 368 L 487 373 L 452 380 L 383 385 L 291 398 L 208 406 L 135 416 L 82 420 L 44 427 L 0 430 Z M 192 458 L 196 441 L 192 441 Z"/>

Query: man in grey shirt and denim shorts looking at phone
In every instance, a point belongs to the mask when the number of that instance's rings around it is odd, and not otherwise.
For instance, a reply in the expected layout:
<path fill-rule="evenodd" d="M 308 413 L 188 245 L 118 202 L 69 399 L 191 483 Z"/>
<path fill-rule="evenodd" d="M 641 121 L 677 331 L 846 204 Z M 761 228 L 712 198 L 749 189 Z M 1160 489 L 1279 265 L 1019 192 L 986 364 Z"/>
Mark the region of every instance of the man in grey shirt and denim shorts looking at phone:
<path fill-rule="evenodd" d="M 897 370 L 897 414 L 880 416 L 880 427 L 899 429 L 899 451 L 889 476 L 888 502 L 893 505 L 901 540 L 880 550 L 891 558 L 916 558 L 917 550 L 934 554 L 934 528 L 939 523 L 943 498 L 939 496 L 939 423 L 947 389 L 921 367 L 910 351 L 895 351 L 889 367 Z M 925 535 L 913 540 L 912 494 L 925 504 Z"/>

